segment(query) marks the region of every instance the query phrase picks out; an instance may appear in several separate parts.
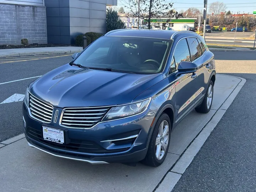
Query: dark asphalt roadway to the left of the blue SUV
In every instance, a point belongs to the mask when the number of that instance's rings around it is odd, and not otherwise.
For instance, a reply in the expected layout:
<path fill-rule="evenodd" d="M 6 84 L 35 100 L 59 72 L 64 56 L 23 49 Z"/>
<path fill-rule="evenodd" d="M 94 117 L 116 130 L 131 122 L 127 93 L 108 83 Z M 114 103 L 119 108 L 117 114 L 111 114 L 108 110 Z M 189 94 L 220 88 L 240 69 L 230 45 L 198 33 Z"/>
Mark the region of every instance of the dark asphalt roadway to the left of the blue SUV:
<path fill-rule="evenodd" d="M 0 103 L 14 94 L 25 94 L 27 85 L 36 79 L 33 77 L 43 75 L 71 59 L 71 54 L 0 58 Z M 0 104 L 0 142 L 22 133 L 21 106 L 22 102 Z"/>

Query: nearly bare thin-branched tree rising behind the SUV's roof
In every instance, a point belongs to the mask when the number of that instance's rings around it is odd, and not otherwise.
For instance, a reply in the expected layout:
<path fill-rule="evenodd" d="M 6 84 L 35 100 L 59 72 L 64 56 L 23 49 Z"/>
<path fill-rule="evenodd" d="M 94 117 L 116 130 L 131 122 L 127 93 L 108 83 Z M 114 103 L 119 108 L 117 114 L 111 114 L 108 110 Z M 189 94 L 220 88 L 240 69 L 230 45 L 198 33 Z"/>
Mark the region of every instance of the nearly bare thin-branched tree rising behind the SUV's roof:
<path fill-rule="evenodd" d="M 132 12 L 134 17 L 148 22 L 148 29 L 151 27 L 151 19 L 161 16 L 167 16 L 173 3 L 166 2 L 165 0 L 122 0 L 124 7 Z M 138 11 L 139 10 L 139 11 Z"/>

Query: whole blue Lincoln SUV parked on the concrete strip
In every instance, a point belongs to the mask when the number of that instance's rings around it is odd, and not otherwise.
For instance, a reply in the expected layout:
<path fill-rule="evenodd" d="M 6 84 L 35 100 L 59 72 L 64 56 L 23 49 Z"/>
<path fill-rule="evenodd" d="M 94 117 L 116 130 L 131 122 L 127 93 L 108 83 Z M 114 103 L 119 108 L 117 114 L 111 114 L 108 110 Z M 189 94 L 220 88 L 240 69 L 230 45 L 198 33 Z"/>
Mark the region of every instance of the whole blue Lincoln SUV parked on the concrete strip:
<path fill-rule="evenodd" d="M 73 57 L 23 102 L 28 145 L 48 154 L 159 166 L 177 124 L 211 108 L 214 55 L 194 32 L 114 30 Z"/>

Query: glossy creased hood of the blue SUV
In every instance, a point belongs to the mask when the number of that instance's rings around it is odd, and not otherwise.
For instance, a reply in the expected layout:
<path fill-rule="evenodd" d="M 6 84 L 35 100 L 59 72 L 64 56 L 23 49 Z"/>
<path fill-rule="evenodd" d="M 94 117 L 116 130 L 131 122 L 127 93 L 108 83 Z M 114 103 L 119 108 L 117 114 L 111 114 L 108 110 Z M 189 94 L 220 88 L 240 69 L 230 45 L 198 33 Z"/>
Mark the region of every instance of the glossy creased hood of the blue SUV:
<path fill-rule="evenodd" d="M 162 74 L 117 73 L 66 64 L 37 79 L 29 90 L 55 107 L 108 106 L 132 102 L 161 80 Z"/>

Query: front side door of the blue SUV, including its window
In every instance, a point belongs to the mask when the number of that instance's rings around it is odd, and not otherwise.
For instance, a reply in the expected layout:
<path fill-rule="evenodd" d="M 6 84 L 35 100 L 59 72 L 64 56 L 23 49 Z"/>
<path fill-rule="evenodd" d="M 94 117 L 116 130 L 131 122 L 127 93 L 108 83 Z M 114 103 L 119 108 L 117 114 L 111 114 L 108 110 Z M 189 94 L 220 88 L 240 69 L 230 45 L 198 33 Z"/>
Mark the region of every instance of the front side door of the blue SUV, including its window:
<path fill-rule="evenodd" d="M 188 48 L 187 39 L 183 38 L 178 41 L 174 50 L 173 58 L 178 69 L 178 65 L 182 61 L 191 62 L 190 50 Z M 196 89 L 197 89 L 197 78 L 196 74 L 180 74 L 175 75 L 175 90 L 176 90 L 176 105 L 175 114 L 176 121 L 178 122 L 184 114 L 186 114 L 192 108 L 194 104 Z"/>

